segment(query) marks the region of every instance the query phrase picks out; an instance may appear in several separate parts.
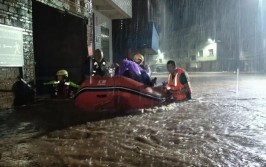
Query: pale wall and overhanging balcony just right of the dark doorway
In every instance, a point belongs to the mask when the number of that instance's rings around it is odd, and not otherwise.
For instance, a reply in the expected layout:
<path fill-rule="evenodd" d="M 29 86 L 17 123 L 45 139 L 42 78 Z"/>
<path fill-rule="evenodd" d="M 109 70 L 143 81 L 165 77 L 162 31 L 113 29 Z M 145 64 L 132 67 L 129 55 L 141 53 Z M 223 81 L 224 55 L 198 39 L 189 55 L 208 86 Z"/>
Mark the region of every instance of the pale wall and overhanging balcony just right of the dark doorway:
<path fill-rule="evenodd" d="M 113 63 L 112 21 L 132 17 L 132 0 L 93 0 L 94 49 L 101 49 L 109 64 Z"/>

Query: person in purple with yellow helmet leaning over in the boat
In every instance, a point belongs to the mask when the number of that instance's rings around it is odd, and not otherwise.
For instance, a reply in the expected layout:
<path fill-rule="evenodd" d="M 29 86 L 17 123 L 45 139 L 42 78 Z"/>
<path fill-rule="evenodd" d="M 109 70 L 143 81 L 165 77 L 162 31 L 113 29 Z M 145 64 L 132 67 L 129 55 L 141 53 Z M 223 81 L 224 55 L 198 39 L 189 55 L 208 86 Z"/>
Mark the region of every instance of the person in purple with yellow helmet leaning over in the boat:
<path fill-rule="evenodd" d="M 147 71 L 145 71 L 141 67 L 143 61 L 144 57 L 140 53 L 135 54 L 133 56 L 133 60 L 128 60 L 128 59 L 123 60 L 119 68 L 118 75 L 123 75 L 132 78 L 138 82 L 144 83 L 147 86 L 154 86 L 157 78 L 151 80 Z"/>

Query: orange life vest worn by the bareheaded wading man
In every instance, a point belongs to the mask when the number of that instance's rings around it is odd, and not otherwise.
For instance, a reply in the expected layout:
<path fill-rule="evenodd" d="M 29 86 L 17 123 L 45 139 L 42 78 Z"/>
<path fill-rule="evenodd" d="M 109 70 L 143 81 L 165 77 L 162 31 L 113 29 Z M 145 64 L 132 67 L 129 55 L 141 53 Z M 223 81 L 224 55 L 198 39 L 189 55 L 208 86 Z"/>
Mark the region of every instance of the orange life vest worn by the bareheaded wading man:
<path fill-rule="evenodd" d="M 169 74 L 168 76 L 168 82 L 167 87 L 169 87 L 172 90 L 181 90 L 185 86 L 180 82 L 180 76 L 181 74 L 186 75 L 186 71 L 182 68 L 176 68 L 176 74 L 175 76 L 172 76 L 172 74 Z M 191 93 L 191 86 L 189 82 L 189 77 L 187 76 L 188 86 L 189 86 L 189 93 Z M 173 95 L 173 98 L 176 100 L 185 100 L 187 98 L 186 93 L 176 93 Z"/>

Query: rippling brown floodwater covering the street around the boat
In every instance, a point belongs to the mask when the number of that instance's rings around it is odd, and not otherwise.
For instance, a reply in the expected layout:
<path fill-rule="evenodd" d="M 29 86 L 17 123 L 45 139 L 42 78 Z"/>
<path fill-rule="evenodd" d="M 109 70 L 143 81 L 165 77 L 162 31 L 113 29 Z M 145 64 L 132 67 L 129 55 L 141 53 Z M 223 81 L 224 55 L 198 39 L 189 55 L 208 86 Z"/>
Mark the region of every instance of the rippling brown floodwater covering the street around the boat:
<path fill-rule="evenodd" d="M 266 166 L 266 75 L 190 77 L 193 100 L 144 112 L 1 111 L 0 166 Z"/>

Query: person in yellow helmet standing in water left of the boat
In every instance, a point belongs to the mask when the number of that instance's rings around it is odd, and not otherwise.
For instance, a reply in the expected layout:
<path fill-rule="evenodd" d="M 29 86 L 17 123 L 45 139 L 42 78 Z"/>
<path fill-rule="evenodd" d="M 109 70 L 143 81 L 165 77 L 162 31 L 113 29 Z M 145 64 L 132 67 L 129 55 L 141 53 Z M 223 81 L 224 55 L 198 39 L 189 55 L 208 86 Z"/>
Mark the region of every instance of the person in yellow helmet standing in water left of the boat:
<path fill-rule="evenodd" d="M 69 80 L 68 72 L 64 69 L 57 71 L 56 77 L 57 79 L 55 81 L 44 83 L 44 85 L 52 86 L 51 96 L 54 98 L 70 98 L 79 88 L 79 85 Z"/>

